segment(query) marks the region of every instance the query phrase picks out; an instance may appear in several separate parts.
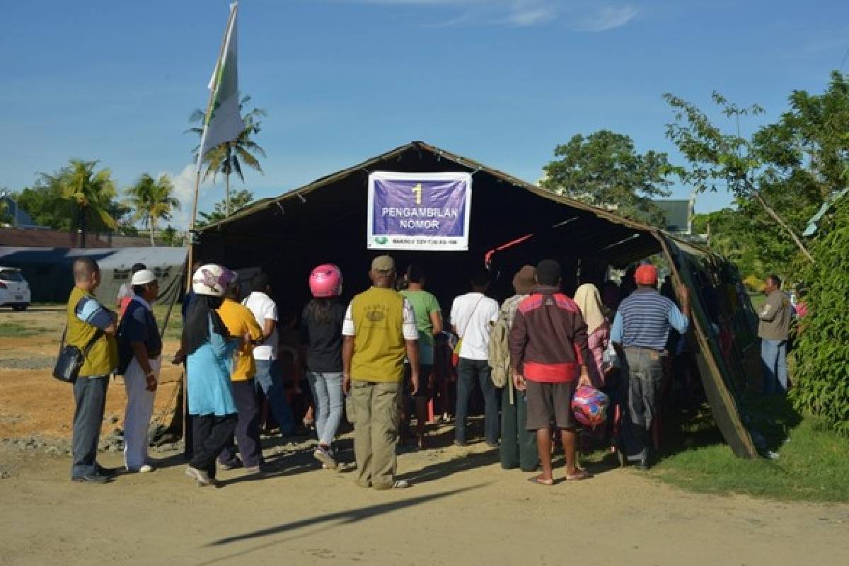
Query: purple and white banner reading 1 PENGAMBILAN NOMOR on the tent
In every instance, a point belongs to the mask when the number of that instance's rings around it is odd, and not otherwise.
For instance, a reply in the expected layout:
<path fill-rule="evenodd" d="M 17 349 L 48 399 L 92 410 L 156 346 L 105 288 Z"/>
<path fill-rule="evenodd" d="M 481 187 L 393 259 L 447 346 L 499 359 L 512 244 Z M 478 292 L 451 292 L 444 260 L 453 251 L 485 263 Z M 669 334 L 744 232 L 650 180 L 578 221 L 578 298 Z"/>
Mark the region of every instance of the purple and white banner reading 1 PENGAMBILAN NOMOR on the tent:
<path fill-rule="evenodd" d="M 368 176 L 368 248 L 469 249 L 470 173 Z"/>

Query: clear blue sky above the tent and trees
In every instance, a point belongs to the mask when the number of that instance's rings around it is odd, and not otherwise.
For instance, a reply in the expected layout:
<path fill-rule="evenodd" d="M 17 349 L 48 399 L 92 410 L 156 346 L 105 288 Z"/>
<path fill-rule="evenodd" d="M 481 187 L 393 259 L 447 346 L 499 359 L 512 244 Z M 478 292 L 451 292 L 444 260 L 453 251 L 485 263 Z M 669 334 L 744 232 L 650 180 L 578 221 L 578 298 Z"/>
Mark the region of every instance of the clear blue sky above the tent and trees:
<path fill-rule="evenodd" d="M 0 187 L 98 159 L 122 187 L 171 173 L 190 210 L 183 131 L 206 103 L 228 2 L 0 7 Z M 239 14 L 240 87 L 268 112 L 265 175 L 245 176 L 257 198 L 413 139 L 529 181 L 556 144 L 601 128 L 680 161 L 663 92 L 707 108 L 718 90 L 774 120 L 849 48 L 849 3 L 830 0 L 243 0 Z M 222 193 L 205 185 L 201 210 Z"/>

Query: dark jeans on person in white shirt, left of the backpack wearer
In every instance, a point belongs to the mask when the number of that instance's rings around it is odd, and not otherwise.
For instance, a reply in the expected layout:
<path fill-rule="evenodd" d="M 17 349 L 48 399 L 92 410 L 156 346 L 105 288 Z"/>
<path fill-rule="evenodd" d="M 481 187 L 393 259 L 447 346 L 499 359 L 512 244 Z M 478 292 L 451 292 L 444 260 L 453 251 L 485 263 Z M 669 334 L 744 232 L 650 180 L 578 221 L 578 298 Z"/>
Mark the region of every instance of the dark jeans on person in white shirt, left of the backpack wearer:
<path fill-rule="evenodd" d="M 484 435 L 486 443 L 498 446 L 498 389 L 492 384 L 492 369 L 486 360 L 460 358 L 457 366 L 457 412 L 454 414 L 454 440 L 466 443 L 466 416 L 469 397 L 475 384 L 481 388 L 484 401 Z"/>

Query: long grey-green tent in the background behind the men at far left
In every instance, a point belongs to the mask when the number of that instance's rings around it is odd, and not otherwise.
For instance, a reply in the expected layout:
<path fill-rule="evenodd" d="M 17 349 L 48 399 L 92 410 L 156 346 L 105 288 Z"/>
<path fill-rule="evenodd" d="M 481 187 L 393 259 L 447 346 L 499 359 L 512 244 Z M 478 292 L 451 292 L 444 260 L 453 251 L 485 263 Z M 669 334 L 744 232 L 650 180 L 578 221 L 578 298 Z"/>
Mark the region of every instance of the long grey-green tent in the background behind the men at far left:
<path fill-rule="evenodd" d="M 32 292 L 34 303 L 63 303 L 74 286 L 71 266 L 78 257 L 98 262 L 102 282 L 97 294 L 113 305 L 122 283 L 130 281 L 132 264 L 143 263 L 160 278 L 160 291 L 174 287 L 186 262 L 186 248 L 11 248 L 0 247 L 0 265 L 18 267 Z"/>

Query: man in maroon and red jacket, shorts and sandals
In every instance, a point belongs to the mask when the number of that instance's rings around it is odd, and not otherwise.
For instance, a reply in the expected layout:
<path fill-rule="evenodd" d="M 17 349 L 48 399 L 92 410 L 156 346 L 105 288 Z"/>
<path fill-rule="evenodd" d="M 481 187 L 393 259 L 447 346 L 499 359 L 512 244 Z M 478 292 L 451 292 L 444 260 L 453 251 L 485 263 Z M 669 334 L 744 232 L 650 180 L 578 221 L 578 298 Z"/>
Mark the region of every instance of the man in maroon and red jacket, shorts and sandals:
<path fill-rule="evenodd" d="M 551 432 L 554 421 L 563 438 L 566 479 L 587 479 L 576 466 L 575 417 L 571 412 L 576 385 L 589 385 L 587 323 L 575 301 L 560 293 L 560 264 L 537 265 L 537 287 L 519 310 L 510 329 L 510 361 L 516 389 L 526 391 L 527 429 L 537 431 L 537 450 L 543 474 L 537 484 L 554 485 L 551 473 Z"/>

